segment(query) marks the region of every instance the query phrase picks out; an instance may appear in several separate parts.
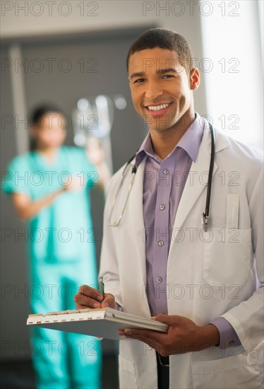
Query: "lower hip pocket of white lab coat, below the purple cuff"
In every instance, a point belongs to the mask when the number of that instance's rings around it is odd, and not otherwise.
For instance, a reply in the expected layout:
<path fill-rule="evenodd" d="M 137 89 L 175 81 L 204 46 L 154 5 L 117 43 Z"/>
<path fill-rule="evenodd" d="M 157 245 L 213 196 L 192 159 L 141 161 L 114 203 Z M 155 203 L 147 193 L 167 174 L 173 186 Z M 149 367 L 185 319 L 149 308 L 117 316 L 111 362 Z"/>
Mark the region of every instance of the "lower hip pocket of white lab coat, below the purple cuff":
<path fill-rule="evenodd" d="M 256 352 L 191 364 L 193 389 L 261 389 Z"/>

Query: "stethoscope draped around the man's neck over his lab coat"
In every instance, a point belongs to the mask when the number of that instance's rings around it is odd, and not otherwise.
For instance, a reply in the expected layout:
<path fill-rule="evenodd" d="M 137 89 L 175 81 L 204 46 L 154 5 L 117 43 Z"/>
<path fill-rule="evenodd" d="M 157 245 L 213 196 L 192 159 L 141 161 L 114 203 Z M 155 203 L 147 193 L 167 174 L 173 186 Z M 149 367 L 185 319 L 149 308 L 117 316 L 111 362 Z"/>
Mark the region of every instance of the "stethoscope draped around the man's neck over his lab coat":
<path fill-rule="evenodd" d="M 211 189 L 212 189 L 212 170 L 214 168 L 214 162 L 215 162 L 215 131 L 214 131 L 213 127 L 212 127 L 212 124 L 209 124 L 209 127 L 210 127 L 210 133 L 211 133 L 211 158 L 210 158 L 210 166 L 209 166 L 209 174 L 208 174 L 208 184 L 207 184 L 205 211 L 202 213 L 202 225 L 203 225 L 203 230 L 205 232 L 208 231 L 210 197 L 211 197 Z M 115 195 L 114 201 L 112 203 L 112 209 L 111 209 L 110 214 L 109 214 L 108 226 L 110 226 L 110 227 L 117 227 L 117 226 L 119 226 L 119 223 L 120 223 L 120 221 L 123 218 L 124 211 L 126 209 L 126 204 L 128 202 L 128 197 L 129 197 L 129 194 L 131 192 L 131 189 L 132 189 L 132 186 L 133 186 L 133 182 L 135 180 L 135 175 L 136 175 L 136 171 L 137 171 L 136 164 L 132 166 L 131 182 L 130 182 L 129 187 L 128 187 L 128 193 L 127 193 L 127 196 L 126 196 L 126 202 L 125 202 L 124 207 L 123 207 L 123 209 L 121 211 L 119 219 L 116 220 L 116 221 L 111 221 L 112 220 L 112 214 L 113 214 L 114 206 L 116 204 L 116 199 L 117 199 L 117 197 L 119 195 L 121 186 L 122 186 L 122 184 L 124 182 L 124 179 L 126 177 L 128 166 L 130 165 L 131 161 L 133 161 L 133 159 L 136 157 L 136 154 L 133 155 L 133 157 L 131 157 L 129 159 L 129 161 L 127 161 L 126 166 L 124 167 L 124 170 L 122 172 L 122 178 L 121 178 L 121 181 L 119 183 L 119 187 L 116 190 L 116 195 Z"/>

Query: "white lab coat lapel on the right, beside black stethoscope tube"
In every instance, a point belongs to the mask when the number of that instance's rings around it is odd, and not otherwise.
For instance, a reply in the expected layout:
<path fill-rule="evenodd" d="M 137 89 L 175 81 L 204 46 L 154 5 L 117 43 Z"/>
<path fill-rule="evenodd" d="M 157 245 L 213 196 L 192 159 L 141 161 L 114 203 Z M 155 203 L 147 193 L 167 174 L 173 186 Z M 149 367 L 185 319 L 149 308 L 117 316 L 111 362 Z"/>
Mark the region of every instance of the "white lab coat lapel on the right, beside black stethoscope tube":
<path fill-rule="evenodd" d="M 211 156 L 211 137 L 210 129 L 205 126 L 203 139 L 200 144 L 198 156 L 196 162 L 191 165 L 190 173 L 186 180 L 184 192 L 181 195 L 181 201 L 176 211 L 176 217 L 174 221 L 174 239 L 172 240 L 171 248 L 174 242 L 177 240 L 177 235 L 180 233 L 179 228 L 182 227 L 184 221 L 191 209 L 195 206 L 200 194 L 207 190 L 206 182 L 208 180 L 208 170 L 210 165 Z M 213 175 L 217 170 L 217 164 L 214 163 Z M 200 209 L 200 216 L 204 209 Z M 200 220 L 199 220 L 200 221 Z"/>

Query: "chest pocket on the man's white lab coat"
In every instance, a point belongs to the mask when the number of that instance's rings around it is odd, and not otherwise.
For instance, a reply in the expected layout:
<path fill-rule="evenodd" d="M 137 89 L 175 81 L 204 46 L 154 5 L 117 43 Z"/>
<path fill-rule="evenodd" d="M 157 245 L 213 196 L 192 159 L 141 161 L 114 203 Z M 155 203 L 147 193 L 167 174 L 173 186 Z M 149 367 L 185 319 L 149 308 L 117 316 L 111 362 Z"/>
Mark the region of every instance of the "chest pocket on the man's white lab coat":
<path fill-rule="evenodd" d="M 203 278 L 211 286 L 241 286 L 251 262 L 251 228 L 210 228 L 203 235 Z"/>

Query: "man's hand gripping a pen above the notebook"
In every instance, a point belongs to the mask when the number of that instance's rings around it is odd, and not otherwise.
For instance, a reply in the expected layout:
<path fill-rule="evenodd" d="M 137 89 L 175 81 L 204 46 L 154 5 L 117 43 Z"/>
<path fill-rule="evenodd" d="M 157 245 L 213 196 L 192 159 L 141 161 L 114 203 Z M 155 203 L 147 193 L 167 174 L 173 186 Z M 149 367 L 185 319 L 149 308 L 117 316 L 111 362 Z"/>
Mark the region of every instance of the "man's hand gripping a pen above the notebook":
<path fill-rule="evenodd" d="M 73 296 L 73 300 L 76 302 L 76 309 L 115 307 L 112 294 L 106 293 L 102 296 L 99 291 L 88 285 L 80 286 L 78 293 Z"/>

